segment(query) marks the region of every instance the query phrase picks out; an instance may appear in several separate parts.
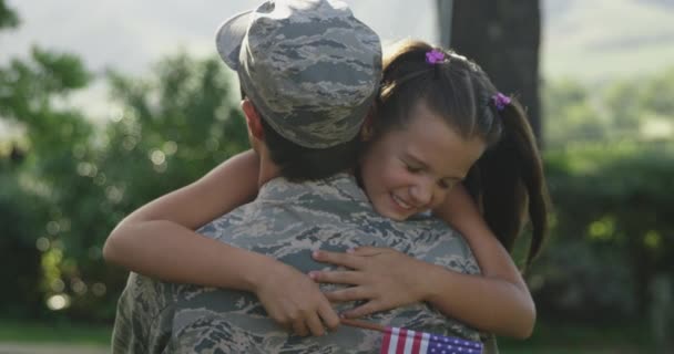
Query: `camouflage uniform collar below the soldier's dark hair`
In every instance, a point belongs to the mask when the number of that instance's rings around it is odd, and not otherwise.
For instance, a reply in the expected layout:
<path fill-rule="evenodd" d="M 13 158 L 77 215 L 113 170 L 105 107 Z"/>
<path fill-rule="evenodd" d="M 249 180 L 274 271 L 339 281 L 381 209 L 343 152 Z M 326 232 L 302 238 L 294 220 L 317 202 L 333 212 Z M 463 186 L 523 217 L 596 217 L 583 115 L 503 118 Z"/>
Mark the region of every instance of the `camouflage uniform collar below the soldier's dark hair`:
<path fill-rule="evenodd" d="M 320 196 L 321 199 L 329 200 L 368 202 L 367 196 L 358 187 L 356 178 L 346 173 L 320 180 L 302 183 L 293 183 L 283 177 L 277 177 L 262 186 L 257 200 L 292 202 L 302 200 L 306 195 Z"/>

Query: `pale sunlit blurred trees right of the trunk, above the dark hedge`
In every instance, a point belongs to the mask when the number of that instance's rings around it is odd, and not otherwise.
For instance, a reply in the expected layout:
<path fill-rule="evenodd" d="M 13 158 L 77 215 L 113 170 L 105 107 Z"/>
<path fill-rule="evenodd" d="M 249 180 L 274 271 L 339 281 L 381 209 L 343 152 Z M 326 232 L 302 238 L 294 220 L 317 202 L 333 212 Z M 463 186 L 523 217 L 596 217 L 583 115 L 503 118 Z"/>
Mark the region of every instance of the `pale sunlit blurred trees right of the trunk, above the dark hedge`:
<path fill-rule="evenodd" d="M 599 87 L 552 82 L 542 96 L 545 146 L 550 148 L 569 142 L 674 138 L 674 67 Z"/>

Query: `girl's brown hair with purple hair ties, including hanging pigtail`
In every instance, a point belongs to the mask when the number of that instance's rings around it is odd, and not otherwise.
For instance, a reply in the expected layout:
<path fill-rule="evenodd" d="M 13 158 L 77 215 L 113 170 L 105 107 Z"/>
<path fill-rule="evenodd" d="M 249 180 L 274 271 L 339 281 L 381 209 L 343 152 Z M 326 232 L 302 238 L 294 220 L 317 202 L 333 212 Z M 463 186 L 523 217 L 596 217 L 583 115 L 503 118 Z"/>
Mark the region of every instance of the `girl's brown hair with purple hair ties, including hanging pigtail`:
<path fill-rule="evenodd" d="M 429 62 L 427 53 L 436 59 Z M 451 51 L 408 41 L 385 58 L 372 133 L 376 139 L 394 127 L 405 127 L 412 118 L 413 106 L 423 102 L 464 139 L 483 139 L 488 149 L 463 184 L 508 251 L 529 215 L 532 225 L 529 264 L 545 238 L 548 191 L 524 110 L 515 100 L 497 104 L 498 93 L 476 63 Z"/>

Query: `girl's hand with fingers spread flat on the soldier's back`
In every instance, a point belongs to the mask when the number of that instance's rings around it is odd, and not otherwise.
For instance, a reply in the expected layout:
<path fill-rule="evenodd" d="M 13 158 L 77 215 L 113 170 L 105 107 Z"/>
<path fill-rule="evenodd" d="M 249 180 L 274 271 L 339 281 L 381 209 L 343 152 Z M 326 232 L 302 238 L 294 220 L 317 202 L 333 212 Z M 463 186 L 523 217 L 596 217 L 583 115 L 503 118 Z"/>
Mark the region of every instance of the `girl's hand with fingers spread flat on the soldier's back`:
<path fill-rule="evenodd" d="M 348 284 L 350 288 L 327 292 L 333 302 L 366 301 L 343 313 L 349 319 L 423 301 L 426 263 L 389 248 L 359 247 L 343 252 L 314 252 L 319 262 L 347 270 L 313 271 L 309 277 L 321 283 Z"/>

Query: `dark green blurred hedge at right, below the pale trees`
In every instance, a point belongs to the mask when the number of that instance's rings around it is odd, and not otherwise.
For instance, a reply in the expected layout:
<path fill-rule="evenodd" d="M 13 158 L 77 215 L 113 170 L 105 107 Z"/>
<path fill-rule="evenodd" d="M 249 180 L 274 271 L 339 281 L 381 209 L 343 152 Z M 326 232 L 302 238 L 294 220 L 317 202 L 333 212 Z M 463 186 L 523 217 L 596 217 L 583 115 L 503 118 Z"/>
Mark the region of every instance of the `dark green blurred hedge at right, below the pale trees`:
<path fill-rule="evenodd" d="M 674 275 L 674 144 L 569 145 L 545 163 L 554 228 L 529 273 L 541 312 L 643 317 L 654 277 Z"/>

